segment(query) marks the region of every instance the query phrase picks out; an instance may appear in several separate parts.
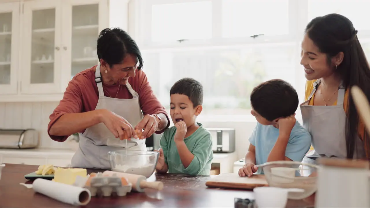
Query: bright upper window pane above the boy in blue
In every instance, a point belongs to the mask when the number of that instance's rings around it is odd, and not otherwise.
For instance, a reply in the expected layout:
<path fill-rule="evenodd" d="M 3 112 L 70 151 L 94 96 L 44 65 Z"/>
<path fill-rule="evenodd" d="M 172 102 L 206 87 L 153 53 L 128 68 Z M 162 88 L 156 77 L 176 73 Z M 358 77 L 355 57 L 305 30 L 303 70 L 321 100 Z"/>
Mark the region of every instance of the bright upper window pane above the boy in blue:
<path fill-rule="evenodd" d="M 288 0 L 222 0 L 222 37 L 287 35 L 288 8 Z"/>

